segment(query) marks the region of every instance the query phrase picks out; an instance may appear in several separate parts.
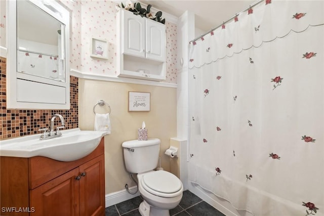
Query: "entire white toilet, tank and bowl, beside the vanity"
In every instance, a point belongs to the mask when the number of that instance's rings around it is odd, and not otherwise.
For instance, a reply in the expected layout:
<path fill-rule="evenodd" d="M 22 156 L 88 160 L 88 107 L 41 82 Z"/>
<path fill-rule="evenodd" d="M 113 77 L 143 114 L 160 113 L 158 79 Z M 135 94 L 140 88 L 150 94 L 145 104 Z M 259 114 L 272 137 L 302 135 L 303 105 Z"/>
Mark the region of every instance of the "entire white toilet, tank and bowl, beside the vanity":
<path fill-rule="evenodd" d="M 138 188 L 144 201 L 139 211 L 142 216 L 170 216 L 169 209 L 181 201 L 183 186 L 175 175 L 156 168 L 161 141 L 132 140 L 123 143 L 126 169 L 137 174 Z"/>

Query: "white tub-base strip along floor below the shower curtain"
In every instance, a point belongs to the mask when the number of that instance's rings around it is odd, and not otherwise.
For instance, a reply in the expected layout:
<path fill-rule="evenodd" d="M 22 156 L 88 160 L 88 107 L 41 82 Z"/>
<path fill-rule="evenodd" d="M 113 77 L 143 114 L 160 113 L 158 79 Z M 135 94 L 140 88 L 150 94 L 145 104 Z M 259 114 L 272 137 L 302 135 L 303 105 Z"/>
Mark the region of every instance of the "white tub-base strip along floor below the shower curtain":
<path fill-rule="evenodd" d="M 196 196 L 198 196 L 200 199 L 203 199 L 208 204 L 214 206 L 217 210 L 219 210 L 223 214 L 225 214 L 227 216 L 237 216 L 238 215 L 238 214 L 234 213 L 234 212 L 237 212 L 237 211 L 236 211 L 235 208 L 230 206 L 230 203 L 228 203 L 229 206 L 225 207 L 219 201 L 216 200 L 218 198 L 215 195 L 214 195 L 215 196 L 215 199 L 214 199 L 210 195 L 208 195 L 207 192 L 204 191 L 203 188 L 199 187 L 198 185 L 196 185 L 194 183 L 191 183 L 191 182 L 188 182 L 188 190 L 190 192 L 192 192 L 193 194 L 195 194 Z M 247 214 L 247 215 L 249 215 L 249 214 Z"/>

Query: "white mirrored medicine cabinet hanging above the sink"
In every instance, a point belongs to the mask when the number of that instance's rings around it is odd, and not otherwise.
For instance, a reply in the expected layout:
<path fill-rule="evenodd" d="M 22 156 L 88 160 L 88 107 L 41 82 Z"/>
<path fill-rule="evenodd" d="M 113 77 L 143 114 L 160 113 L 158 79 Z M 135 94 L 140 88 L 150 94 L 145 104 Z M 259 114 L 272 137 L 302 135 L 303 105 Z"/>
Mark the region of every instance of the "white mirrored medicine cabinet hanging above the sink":
<path fill-rule="evenodd" d="M 69 11 L 8 1 L 7 108 L 69 109 Z"/>

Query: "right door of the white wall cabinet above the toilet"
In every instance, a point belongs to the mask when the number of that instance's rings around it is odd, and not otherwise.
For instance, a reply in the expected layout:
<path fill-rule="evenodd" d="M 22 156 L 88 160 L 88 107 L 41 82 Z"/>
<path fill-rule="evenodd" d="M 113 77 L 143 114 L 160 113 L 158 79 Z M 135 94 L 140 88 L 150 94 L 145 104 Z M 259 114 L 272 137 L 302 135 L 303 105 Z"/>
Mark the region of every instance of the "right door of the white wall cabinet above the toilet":
<path fill-rule="evenodd" d="M 165 25 L 156 21 L 146 21 L 146 58 L 164 62 L 166 60 Z"/>

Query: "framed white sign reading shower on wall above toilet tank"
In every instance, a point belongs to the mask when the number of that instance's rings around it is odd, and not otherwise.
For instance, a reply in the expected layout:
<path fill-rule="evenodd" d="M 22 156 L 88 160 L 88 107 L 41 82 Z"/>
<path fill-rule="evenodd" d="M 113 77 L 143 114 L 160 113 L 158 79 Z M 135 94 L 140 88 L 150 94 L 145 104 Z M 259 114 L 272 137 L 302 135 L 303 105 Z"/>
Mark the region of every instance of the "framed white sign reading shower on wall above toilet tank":
<path fill-rule="evenodd" d="M 150 93 L 128 92 L 128 111 L 150 111 Z"/>

